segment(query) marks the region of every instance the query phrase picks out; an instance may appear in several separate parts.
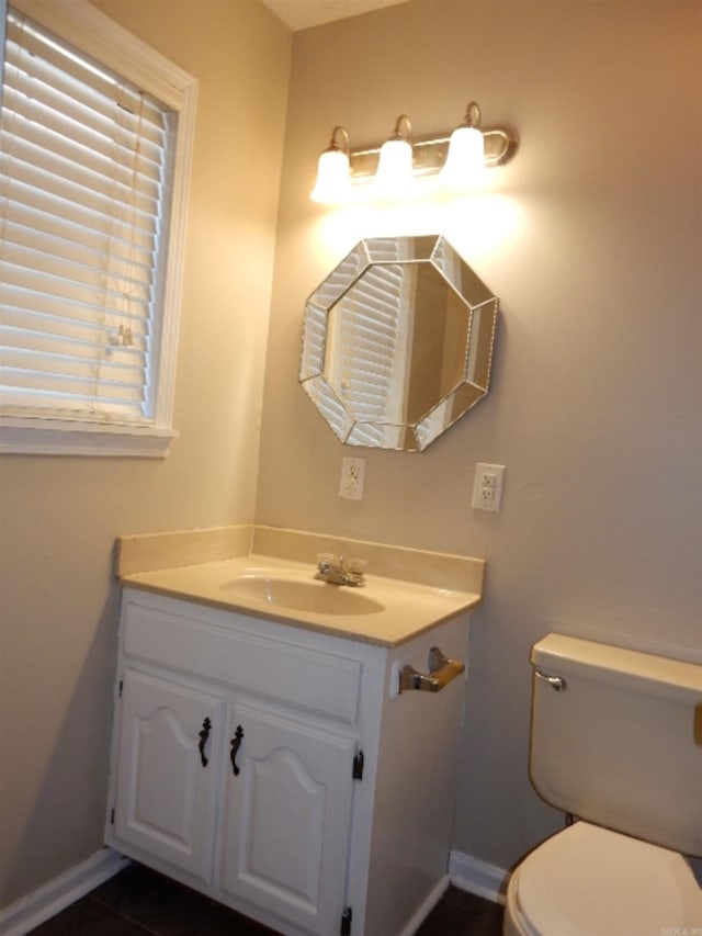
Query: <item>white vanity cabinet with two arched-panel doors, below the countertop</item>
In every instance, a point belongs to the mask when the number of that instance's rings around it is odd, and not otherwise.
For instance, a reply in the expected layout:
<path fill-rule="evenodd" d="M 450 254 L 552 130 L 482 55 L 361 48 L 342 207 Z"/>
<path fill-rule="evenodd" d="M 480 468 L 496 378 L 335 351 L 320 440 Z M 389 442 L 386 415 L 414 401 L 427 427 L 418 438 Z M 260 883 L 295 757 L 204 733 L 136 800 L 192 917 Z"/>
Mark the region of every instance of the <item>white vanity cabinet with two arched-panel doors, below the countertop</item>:
<path fill-rule="evenodd" d="M 465 659 L 467 625 L 392 649 L 126 588 L 107 844 L 291 936 L 411 933 L 448 881 L 464 685 L 398 670 Z"/>

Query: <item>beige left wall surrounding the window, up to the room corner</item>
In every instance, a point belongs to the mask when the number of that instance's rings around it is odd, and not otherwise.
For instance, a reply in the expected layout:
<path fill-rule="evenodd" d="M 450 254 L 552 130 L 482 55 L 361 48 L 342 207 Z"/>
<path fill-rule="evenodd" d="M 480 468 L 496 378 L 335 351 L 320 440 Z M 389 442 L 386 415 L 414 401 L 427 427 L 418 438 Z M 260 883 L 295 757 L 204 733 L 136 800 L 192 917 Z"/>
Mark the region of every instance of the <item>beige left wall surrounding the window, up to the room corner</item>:
<path fill-rule="evenodd" d="M 0 905 L 102 844 L 120 533 L 253 519 L 292 37 L 257 0 L 97 0 L 200 81 L 166 461 L 2 456 Z"/>

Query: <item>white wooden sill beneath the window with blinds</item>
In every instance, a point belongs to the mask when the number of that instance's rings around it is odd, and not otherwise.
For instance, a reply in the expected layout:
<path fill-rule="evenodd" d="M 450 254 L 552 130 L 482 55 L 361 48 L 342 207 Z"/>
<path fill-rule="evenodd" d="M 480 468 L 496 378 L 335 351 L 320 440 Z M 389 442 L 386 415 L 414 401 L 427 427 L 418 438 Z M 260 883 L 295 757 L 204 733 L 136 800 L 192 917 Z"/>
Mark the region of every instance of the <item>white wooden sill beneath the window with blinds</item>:
<path fill-rule="evenodd" d="M 156 426 L 0 418 L 0 454 L 163 459 L 177 437 Z"/>

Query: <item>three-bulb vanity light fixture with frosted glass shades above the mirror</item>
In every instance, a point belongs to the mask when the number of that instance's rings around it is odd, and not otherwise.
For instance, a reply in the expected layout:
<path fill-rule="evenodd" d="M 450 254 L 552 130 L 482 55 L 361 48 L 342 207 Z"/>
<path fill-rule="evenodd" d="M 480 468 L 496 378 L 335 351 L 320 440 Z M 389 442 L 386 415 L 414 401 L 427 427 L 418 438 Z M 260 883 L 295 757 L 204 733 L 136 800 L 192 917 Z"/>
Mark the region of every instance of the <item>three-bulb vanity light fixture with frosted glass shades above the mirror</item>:
<path fill-rule="evenodd" d="M 343 136 L 343 147 L 339 136 Z M 371 183 L 371 194 L 401 198 L 411 181 L 438 176 L 439 189 L 460 192 L 479 180 L 484 169 L 503 166 L 517 151 L 519 138 L 508 127 L 480 126 L 480 109 L 471 101 L 465 120 L 452 133 L 412 138 L 407 114 L 400 114 L 393 136 L 385 143 L 350 149 L 342 126 L 333 128 L 329 147 L 319 157 L 317 183 L 310 198 L 322 204 L 340 204 L 351 196 L 351 185 Z"/>

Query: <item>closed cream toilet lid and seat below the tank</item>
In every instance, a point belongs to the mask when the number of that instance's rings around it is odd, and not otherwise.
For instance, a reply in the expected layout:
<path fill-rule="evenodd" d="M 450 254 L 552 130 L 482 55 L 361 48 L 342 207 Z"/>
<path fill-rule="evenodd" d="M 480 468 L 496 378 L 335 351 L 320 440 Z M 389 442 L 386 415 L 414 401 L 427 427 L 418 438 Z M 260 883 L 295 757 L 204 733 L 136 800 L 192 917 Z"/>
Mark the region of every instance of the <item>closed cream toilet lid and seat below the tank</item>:
<path fill-rule="evenodd" d="M 660 936 L 702 927 L 702 889 L 677 852 L 577 822 L 512 875 L 508 912 L 524 936 Z"/>

